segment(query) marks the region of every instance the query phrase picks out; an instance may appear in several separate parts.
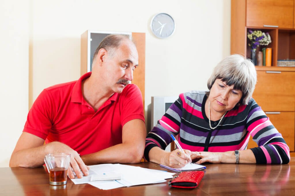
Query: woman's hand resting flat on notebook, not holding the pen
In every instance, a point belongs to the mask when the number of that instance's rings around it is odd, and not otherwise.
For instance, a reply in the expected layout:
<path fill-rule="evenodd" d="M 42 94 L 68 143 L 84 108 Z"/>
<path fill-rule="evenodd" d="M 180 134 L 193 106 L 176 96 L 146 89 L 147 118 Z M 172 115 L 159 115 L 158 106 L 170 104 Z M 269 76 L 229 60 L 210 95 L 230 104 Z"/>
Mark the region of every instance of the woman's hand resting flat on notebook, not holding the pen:
<path fill-rule="evenodd" d="M 222 163 L 222 153 L 212 152 L 191 152 L 191 159 L 198 160 L 196 163 L 201 164 L 204 162 Z"/>

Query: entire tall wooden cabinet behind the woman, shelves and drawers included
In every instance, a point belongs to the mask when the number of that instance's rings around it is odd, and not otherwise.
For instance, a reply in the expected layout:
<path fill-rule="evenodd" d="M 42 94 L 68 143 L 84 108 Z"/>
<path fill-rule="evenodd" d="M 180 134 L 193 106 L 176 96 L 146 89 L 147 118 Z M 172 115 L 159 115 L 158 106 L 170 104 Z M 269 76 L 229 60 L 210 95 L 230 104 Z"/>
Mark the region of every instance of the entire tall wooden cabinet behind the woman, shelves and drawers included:
<path fill-rule="evenodd" d="M 231 54 L 250 58 L 249 30 L 269 33 L 272 66 L 255 66 L 253 98 L 282 134 L 290 151 L 295 143 L 295 68 L 279 67 L 278 60 L 295 59 L 295 0 L 232 0 Z M 265 26 L 272 25 L 272 27 Z M 273 27 L 278 26 L 278 27 Z M 265 47 L 265 46 L 264 46 Z M 257 51 L 261 51 L 258 47 Z M 248 148 L 257 146 L 252 138 Z"/>

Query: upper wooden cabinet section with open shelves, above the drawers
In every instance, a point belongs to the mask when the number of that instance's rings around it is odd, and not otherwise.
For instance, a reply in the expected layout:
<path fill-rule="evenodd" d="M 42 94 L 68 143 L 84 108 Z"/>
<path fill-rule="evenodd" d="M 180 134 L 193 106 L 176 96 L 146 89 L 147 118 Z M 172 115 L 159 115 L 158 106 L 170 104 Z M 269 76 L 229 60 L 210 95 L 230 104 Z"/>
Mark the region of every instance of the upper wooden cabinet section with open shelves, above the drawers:
<path fill-rule="evenodd" d="M 272 42 L 268 46 L 259 46 L 256 52 L 264 47 L 272 48 L 272 66 L 277 66 L 278 60 L 295 59 L 294 1 L 232 0 L 231 53 L 250 58 L 247 32 L 260 30 L 269 33 Z"/>

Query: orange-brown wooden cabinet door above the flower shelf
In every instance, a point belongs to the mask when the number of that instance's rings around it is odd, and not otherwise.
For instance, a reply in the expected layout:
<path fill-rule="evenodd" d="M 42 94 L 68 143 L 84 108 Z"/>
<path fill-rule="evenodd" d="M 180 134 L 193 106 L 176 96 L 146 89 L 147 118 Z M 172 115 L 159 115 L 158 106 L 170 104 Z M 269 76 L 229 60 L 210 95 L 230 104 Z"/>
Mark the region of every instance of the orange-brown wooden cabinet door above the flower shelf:
<path fill-rule="evenodd" d="M 246 26 L 293 28 L 294 0 L 247 0 Z"/>

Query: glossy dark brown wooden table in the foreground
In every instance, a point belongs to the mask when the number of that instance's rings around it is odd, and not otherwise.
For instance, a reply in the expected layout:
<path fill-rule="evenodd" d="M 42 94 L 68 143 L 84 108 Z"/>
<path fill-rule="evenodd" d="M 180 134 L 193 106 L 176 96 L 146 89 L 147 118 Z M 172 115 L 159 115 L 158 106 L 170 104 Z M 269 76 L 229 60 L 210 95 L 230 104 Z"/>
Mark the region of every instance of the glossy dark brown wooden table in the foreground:
<path fill-rule="evenodd" d="M 130 164 L 164 170 L 154 163 Z M 100 190 L 89 184 L 66 187 L 49 185 L 44 167 L 0 168 L 0 195 L 295 195 L 295 160 L 287 165 L 206 164 L 206 173 L 194 189 L 177 189 L 167 182 L 112 190 Z M 169 179 L 170 180 L 170 179 Z M 167 181 L 169 181 L 167 180 Z"/>

